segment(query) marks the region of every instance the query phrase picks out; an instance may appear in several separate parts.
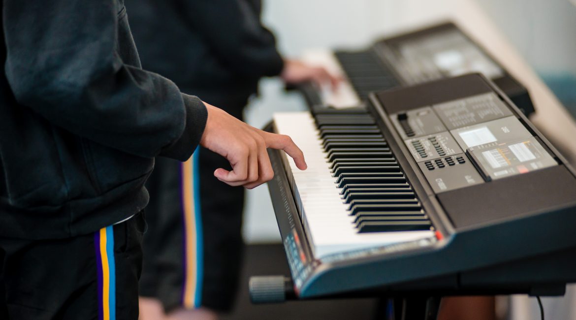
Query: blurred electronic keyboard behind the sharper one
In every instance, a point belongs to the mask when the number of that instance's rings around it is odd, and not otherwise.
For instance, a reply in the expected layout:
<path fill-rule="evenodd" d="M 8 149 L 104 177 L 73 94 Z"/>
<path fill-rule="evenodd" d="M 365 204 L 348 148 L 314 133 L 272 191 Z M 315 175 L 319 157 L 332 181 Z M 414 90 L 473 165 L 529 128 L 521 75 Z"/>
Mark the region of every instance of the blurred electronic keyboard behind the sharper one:
<path fill-rule="evenodd" d="M 363 51 L 316 49 L 302 59 L 343 78 L 336 92 L 312 83 L 298 86 L 310 108 L 365 106 L 370 92 L 478 72 L 526 116 L 534 112 L 528 90 L 452 22 L 386 37 Z"/>

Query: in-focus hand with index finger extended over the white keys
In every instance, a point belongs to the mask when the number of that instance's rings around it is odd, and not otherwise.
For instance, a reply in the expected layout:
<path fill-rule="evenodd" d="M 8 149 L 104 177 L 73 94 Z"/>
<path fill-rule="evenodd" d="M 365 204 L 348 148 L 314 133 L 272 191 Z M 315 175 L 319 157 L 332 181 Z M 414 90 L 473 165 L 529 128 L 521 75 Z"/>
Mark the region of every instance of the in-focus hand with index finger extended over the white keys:
<path fill-rule="evenodd" d="M 270 181 L 274 171 L 266 148 L 286 151 L 300 170 L 306 169 L 304 154 L 286 135 L 271 134 L 230 116 L 222 109 L 204 102 L 208 120 L 200 145 L 222 155 L 232 165 L 232 171 L 218 168 L 214 176 L 232 186 L 252 189 Z"/>

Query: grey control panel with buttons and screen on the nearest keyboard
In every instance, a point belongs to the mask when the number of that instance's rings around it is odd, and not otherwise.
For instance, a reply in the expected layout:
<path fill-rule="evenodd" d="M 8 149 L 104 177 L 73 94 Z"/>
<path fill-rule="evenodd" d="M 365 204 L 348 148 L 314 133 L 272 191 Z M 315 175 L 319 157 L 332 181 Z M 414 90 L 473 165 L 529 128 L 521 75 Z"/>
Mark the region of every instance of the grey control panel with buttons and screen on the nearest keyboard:
<path fill-rule="evenodd" d="M 389 117 L 435 193 L 558 164 L 494 92 Z"/>

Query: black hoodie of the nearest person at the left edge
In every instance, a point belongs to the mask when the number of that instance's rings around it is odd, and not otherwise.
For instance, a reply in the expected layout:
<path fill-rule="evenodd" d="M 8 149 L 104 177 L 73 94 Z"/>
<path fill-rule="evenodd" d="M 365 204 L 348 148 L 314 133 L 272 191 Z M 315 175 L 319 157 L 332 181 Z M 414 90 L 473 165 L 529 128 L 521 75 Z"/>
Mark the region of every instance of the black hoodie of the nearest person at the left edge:
<path fill-rule="evenodd" d="M 142 70 L 122 0 L 1 3 L 0 237 L 73 237 L 141 211 L 154 157 L 190 157 L 206 107 Z"/>

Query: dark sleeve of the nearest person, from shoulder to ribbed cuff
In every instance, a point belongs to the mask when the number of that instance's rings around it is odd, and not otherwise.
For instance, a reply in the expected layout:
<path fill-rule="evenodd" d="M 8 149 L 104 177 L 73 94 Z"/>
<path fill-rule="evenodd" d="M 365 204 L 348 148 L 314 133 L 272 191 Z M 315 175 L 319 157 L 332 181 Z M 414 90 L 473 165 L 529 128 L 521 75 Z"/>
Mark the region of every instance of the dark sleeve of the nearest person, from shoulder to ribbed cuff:
<path fill-rule="evenodd" d="M 127 153 L 190 157 L 206 107 L 168 79 L 123 62 L 118 52 L 134 47 L 118 41 L 126 35 L 117 33 L 112 0 L 2 3 L 6 76 L 21 105 Z"/>

